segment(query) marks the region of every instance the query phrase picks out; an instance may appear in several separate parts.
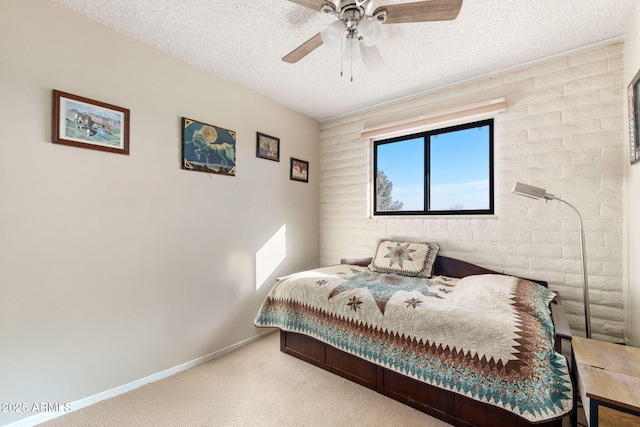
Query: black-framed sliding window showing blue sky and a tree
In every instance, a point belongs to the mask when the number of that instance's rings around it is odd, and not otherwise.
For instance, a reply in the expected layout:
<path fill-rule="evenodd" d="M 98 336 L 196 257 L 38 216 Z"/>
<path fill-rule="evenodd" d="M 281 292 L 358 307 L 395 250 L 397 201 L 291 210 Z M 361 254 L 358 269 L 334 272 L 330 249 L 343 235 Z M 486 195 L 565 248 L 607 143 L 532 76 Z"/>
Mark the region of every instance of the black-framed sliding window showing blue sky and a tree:
<path fill-rule="evenodd" d="M 374 215 L 493 214 L 493 119 L 374 142 Z"/>

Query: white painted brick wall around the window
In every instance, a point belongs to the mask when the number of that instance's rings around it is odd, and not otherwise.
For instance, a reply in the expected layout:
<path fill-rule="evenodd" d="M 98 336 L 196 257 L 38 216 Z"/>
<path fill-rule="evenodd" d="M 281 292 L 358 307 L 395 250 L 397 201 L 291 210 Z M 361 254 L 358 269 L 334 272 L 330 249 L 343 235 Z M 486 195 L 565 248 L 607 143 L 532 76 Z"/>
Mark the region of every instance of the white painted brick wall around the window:
<path fill-rule="evenodd" d="M 578 218 L 560 202 L 510 193 L 546 188 L 582 214 L 594 338 L 621 341 L 623 44 L 613 43 L 321 123 L 320 262 L 372 256 L 379 237 L 435 241 L 441 253 L 546 280 L 584 335 Z M 496 215 L 372 218 L 367 127 L 504 97 L 496 116 Z"/>

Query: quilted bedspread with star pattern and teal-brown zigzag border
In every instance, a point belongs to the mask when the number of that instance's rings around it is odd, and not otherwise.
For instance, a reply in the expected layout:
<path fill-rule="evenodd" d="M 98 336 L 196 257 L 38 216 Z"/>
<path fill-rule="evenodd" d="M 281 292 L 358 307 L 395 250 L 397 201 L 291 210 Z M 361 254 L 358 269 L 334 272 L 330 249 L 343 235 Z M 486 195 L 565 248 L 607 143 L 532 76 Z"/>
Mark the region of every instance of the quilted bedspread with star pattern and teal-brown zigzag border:
<path fill-rule="evenodd" d="M 279 279 L 255 324 L 536 422 L 573 405 L 566 360 L 553 348 L 554 296 L 511 276 L 426 279 L 336 265 Z"/>

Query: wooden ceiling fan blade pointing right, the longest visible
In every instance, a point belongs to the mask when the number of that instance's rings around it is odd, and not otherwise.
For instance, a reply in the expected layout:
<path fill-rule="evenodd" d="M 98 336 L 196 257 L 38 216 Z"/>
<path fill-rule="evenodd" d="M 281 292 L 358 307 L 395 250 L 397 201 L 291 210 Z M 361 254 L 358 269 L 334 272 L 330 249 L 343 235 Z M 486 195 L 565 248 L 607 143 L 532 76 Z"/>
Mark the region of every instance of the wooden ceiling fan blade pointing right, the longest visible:
<path fill-rule="evenodd" d="M 386 10 L 385 24 L 402 24 L 406 22 L 450 21 L 456 19 L 462 0 L 426 0 L 415 3 L 392 4 L 380 6 L 373 12 Z"/>

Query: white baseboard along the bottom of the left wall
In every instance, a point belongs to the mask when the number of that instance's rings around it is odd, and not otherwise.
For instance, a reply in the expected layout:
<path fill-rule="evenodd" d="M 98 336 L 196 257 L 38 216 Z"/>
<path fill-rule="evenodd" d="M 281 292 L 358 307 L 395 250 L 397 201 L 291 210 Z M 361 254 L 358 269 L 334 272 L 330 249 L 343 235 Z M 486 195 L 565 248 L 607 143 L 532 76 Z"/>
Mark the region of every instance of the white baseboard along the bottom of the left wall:
<path fill-rule="evenodd" d="M 209 353 L 206 356 L 198 357 L 197 359 L 194 359 L 190 362 L 183 363 L 182 365 L 174 366 L 173 368 L 166 369 L 162 372 L 158 372 L 156 374 L 149 375 L 147 377 L 141 378 L 136 381 L 132 381 L 130 383 L 121 385 L 119 387 L 112 388 L 111 390 L 103 391 L 102 393 L 94 394 L 93 396 L 89 396 L 89 397 L 85 397 L 84 399 L 77 400 L 70 404 L 71 409 L 68 412 L 43 412 L 38 415 L 33 415 L 30 417 L 15 421 L 10 424 L 6 424 L 5 427 L 32 427 L 34 425 L 44 423 L 45 421 L 49 421 L 54 418 L 61 417 L 70 412 L 77 411 L 82 408 L 86 408 L 87 406 L 91 406 L 103 400 L 111 399 L 112 397 L 118 396 L 120 394 L 126 393 L 131 390 L 135 390 L 139 387 L 142 387 L 143 385 L 150 384 L 155 381 L 162 380 L 164 378 L 168 378 L 172 375 L 175 375 L 182 371 L 186 371 L 187 369 L 191 369 L 202 363 L 208 362 L 213 359 L 217 359 L 218 357 L 224 356 L 227 353 L 231 353 L 232 351 L 237 350 L 240 347 L 244 347 L 245 345 L 251 344 L 252 342 L 257 341 L 260 338 L 264 338 L 265 336 L 272 334 L 274 332 L 275 330 L 267 330 L 265 332 L 262 332 L 259 335 L 248 338 L 244 341 L 240 341 L 236 344 L 233 344 L 221 350 L 214 351 L 213 353 Z"/>

